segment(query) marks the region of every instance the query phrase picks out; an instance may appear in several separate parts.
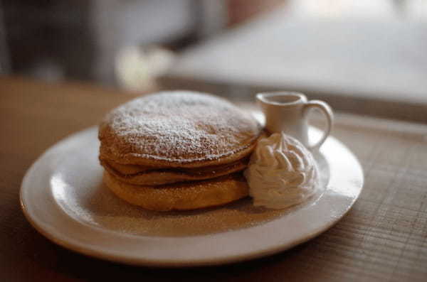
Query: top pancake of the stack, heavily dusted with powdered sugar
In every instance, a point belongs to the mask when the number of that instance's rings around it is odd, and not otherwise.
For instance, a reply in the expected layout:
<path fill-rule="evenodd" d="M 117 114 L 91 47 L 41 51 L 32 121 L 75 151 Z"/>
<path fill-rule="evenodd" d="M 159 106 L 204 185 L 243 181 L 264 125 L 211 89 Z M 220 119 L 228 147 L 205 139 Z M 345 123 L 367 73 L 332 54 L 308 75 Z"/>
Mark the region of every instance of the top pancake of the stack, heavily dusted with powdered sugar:
<path fill-rule="evenodd" d="M 100 158 L 168 167 L 227 163 L 250 153 L 260 130 L 250 114 L 225 99 L 160 92 L 107 115 L 100 125 Z"/>

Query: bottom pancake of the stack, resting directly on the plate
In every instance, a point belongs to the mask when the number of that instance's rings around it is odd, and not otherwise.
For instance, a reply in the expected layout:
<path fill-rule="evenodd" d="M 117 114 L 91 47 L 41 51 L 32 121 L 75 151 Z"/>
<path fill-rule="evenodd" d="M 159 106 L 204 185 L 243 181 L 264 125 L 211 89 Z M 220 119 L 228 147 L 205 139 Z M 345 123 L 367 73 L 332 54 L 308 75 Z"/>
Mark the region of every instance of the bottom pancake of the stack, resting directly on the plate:
<path fill-rule="evenodd" d="M 173 185 L 139 186 L 122 183 L 105 171 L 103 180 L 122 200 L 156 211 L 195 210 L 223 205 L 246 197 L 249 191 L 241 173 Z"/>

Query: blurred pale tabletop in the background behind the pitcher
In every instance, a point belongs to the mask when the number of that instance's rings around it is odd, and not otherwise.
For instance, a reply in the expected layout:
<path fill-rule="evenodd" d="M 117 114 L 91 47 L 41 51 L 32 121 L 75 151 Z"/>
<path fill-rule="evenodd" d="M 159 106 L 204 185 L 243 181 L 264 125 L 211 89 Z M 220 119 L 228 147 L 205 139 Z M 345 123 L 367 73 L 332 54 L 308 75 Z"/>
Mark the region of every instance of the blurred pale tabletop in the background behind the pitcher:
<path fill-rule="evenodd" d="M 298 16 L 290 6 L 191 45 L 162 83 L 241 97 L 296 90 L 356 114 L 427 122 L 423 22 Z"/>

